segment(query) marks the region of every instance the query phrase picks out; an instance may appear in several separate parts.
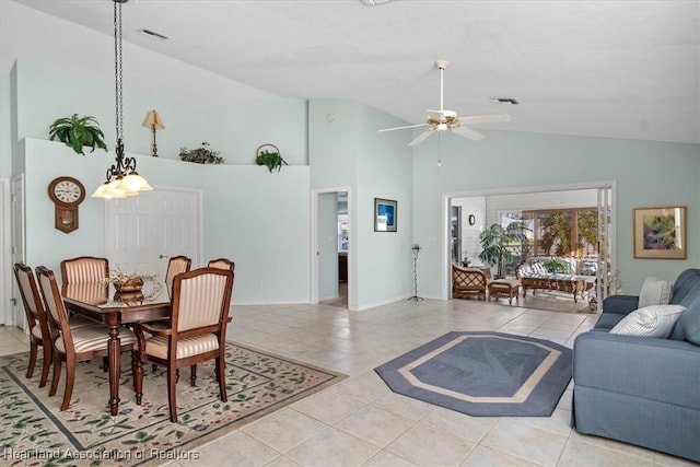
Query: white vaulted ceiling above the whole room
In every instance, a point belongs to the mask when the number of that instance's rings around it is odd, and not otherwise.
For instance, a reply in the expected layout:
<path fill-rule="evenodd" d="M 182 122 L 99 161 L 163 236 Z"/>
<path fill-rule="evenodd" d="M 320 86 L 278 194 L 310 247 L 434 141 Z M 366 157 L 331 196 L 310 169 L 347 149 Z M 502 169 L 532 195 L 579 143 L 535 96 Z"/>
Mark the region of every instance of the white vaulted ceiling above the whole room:
<path fill-rule="evenodd" d="M 112 0 L 14 0 L 113 34 Z M 422 122 L 700 143 L 700 2 L 131 0 L 125 40 L 266 92 Z M 167 36 L 153 39 L 140 30 Z M 517 105 L 493 104 L 514 98 Z"/>

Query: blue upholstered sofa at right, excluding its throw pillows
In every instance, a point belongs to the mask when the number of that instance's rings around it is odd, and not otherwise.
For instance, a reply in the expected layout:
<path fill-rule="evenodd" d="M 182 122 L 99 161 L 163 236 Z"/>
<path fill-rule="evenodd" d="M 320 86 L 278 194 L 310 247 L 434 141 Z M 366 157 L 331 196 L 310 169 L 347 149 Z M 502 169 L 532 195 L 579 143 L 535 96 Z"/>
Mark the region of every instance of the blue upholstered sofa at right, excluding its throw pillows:
<path fill-rule="evenodd" d="M 682 271 L 672 302 L 685 306 L 667 339 L 608 331 L 637 296 L 612 295 L 573 347 L 571 425 L 700 462 L 700 269 Z"/>

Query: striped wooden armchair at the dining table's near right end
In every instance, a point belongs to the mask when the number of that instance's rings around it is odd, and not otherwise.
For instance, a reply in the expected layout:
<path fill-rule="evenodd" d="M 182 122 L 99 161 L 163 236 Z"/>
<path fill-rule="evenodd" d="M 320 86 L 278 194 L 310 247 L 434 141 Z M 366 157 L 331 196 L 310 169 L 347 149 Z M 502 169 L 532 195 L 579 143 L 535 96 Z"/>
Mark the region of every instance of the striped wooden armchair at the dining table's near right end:
<path fill-rule="evenodd" d="M 233 290 L 233 271 L 199 268 L 183 272 L 173 280 L 172 315 L 168 328 L 149 323 L 135 326 L 138 339 L 135 389 L 137 405 L 141 404 L 143 361 L 167 367 L 167 399 L 171 421 L 177 421 L 176 373 L 189 366 L 191 385 L 196 384 L 197 363 L 214 360 L 219 395 L 226 401 L 225 338 L 229 305 Z M 144 337 L 143 332 L 150 336 Z"/>

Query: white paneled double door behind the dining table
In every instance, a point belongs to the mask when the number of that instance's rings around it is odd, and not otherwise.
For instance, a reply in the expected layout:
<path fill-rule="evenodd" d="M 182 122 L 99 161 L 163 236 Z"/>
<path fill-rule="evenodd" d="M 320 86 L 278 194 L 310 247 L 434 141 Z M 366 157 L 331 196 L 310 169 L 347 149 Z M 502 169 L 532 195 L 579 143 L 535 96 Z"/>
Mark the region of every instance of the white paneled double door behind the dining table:
<path fill-rule="evenodd" d="M 105 245 L 109 267 L 165 277 L 167 259 L 184 255 L 201 264 L 201 192 L 155 189 L 106 200 Z"/>

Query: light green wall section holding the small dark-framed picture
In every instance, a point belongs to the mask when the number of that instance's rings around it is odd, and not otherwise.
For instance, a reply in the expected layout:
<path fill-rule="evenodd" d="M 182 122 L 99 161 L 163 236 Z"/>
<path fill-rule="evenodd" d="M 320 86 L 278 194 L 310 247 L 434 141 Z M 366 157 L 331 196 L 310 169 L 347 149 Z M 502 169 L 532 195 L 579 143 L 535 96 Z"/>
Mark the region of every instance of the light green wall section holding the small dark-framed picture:
<path fill-rule="evenodd" d="M 312 188 L 351 188 L 348 302 L 353 310 L 412 294 L 410 151 L 401 136 L 377 133 L 398 124 L 357 102 L 310 102 Z M 374 198 L 398 201 L 397 232 L 374 232 Z"/>

